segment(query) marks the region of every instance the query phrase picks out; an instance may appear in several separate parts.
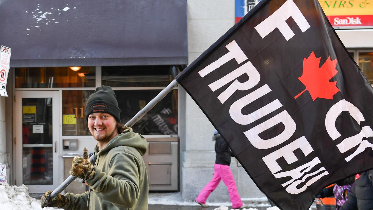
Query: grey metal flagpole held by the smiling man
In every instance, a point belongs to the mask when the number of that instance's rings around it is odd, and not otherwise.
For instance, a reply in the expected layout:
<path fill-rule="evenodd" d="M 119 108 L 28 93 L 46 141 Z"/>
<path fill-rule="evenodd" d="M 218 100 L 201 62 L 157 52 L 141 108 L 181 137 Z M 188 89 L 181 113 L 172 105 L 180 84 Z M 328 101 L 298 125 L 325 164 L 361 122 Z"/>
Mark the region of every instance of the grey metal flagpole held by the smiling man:
<path fill-rule="evenodd" d="M 179 83 L 173 80 L 165 89 L 163 89 L 156 97 L 154 97 L 144 108 L 140 110 L 131 120 L 126 123 L 126 126 L 132 127 L 138 120 L 141 119 L 151 108 L 153 108 L 160 100 L 164 98 L 171 90 L 173 90 Z M 90 157 L 93 160 L 93 155 Z M 56 197 L 60 192 L 62 192 L 69 184 L 76 178 L 76 176 L 70 175 L 65 181 L 60 184 L 51 194 L 50 198 Z"/>

